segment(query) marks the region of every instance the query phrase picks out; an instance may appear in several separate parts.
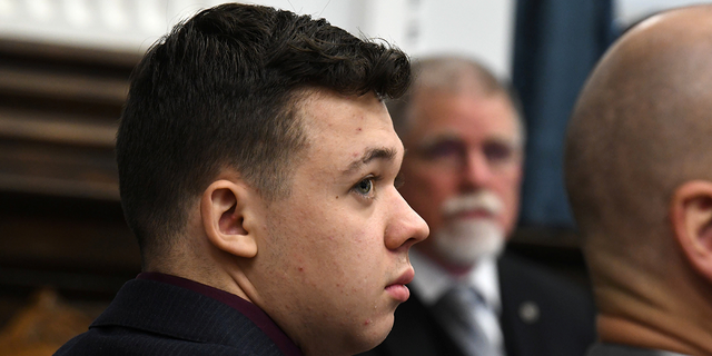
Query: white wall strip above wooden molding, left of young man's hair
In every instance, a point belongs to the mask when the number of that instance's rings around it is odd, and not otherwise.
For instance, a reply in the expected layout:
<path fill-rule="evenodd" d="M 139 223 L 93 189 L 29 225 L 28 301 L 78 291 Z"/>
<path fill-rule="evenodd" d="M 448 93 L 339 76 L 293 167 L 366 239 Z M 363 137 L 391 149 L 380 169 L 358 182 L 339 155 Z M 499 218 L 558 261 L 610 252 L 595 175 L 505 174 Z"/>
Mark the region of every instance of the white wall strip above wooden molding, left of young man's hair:
<path fill-rule="evenodd" d="M 142 51 L 209 1 L 0 0 L 0 37 Z"/>

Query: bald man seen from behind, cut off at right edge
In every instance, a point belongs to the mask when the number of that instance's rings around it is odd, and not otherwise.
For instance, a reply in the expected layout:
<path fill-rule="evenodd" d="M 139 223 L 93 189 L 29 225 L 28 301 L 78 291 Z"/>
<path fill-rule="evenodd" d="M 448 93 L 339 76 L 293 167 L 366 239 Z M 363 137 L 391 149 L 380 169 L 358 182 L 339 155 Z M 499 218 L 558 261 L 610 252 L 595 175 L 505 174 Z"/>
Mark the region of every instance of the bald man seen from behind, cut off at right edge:
<path fill-rule="evenodd" d="M 597 65 L 566 138 L 566 186 L 600 355 L 712 355 L 712 7 L 664 12 Z"/>

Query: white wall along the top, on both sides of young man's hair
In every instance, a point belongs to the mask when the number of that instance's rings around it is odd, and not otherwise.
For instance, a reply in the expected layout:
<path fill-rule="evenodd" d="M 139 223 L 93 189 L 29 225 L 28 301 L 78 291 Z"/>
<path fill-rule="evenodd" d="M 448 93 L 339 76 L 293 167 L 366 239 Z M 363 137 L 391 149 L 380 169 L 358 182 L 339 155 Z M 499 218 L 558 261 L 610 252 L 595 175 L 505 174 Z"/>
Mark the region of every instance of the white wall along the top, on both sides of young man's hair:
<path fill-rule="evenodd" d="M 0 37 L 144 51 L 178 20 L 219 0 L 0 0 Z M 324 17 L 413 56 L 457 52 L 507 76 L 514 0 L 256 0 Z"/>

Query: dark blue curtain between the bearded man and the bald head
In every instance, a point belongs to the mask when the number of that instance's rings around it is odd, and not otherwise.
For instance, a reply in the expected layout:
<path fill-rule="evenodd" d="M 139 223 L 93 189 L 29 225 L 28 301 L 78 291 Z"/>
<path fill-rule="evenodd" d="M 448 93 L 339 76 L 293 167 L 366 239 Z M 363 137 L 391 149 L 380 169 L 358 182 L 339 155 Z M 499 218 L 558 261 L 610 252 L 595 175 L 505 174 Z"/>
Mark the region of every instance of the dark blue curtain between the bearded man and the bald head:
<path fill-rule="evenodd" d="M 615 34 L 612 0 L 517 1 L 512 80 L 527 130 L 524 227 L 574 226 L 562 169 L 566 121 Z"/>

